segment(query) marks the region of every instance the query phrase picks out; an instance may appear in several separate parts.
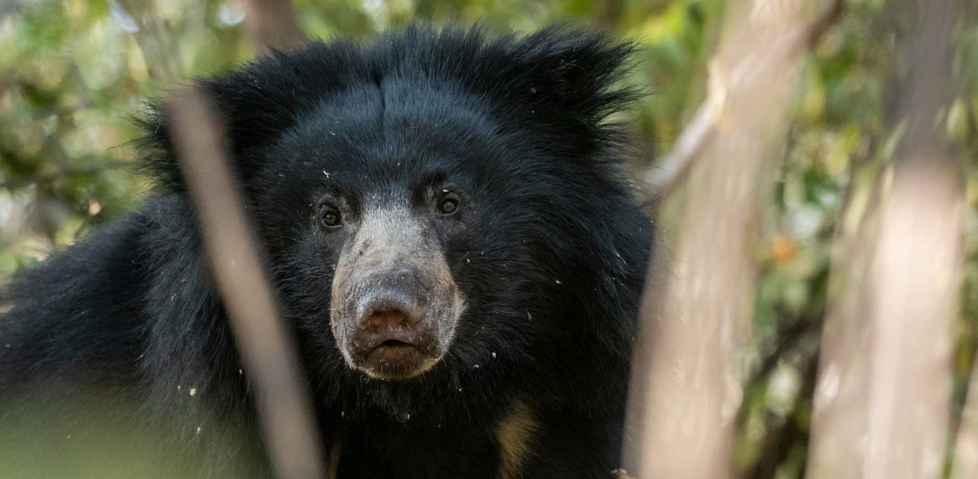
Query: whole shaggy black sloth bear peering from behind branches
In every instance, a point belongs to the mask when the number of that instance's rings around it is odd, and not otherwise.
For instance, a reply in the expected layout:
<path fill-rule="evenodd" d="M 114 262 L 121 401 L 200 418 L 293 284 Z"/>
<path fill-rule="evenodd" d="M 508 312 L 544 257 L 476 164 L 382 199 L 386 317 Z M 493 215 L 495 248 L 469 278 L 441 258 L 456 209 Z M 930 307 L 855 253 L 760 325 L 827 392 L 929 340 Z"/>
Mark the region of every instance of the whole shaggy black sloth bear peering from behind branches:
<path fill-rule="evenodd" d="M 652 240 L 609 118 L 636 97 L 615 86 L 633 50 L 414 25 L 197 80 L 336 477 L 617 466 Z M 0 469 L 19 477 L 270 474 L 155 105 L 145 204 L 5 289 Z"/>

